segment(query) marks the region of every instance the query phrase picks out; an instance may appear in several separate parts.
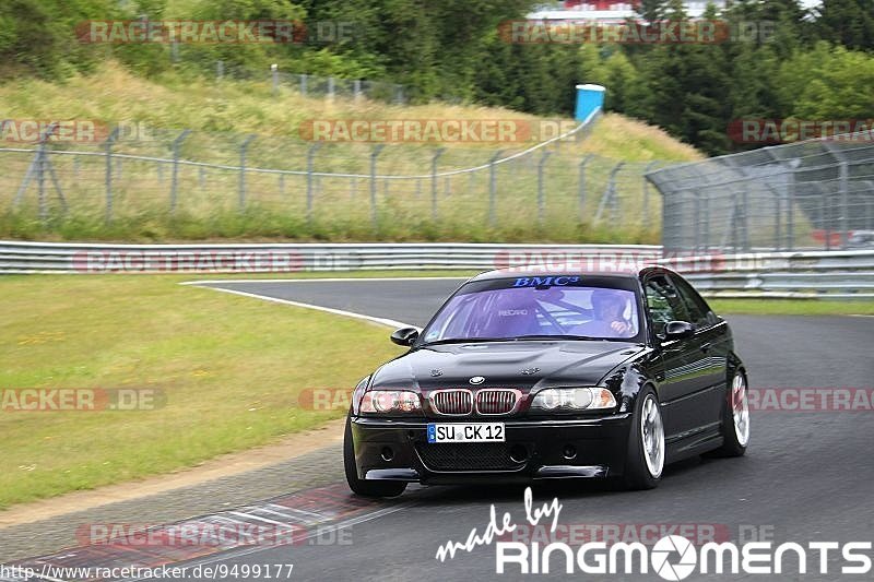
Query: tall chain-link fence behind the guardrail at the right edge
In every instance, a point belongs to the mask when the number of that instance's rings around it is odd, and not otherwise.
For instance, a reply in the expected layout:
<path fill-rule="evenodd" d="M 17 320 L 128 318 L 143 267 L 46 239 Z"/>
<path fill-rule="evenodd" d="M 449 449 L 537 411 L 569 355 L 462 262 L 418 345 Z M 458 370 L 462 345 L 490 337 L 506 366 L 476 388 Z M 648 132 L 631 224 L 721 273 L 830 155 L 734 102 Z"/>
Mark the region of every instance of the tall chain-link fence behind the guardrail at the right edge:
<path fill-rule="evenodd" d="M 874 132 L 662 168 L 665 252 L 874 248 Z"/>

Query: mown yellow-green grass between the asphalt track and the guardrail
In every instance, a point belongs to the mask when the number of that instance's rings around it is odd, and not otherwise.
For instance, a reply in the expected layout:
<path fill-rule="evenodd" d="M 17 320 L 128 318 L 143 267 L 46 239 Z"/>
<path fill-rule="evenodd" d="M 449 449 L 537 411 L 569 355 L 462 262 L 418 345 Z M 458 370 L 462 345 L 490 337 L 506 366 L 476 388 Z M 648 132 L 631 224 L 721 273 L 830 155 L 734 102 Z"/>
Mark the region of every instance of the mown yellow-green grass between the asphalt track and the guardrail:
<path fill-rule="evenodd" d="M 385 328 L 179 285 L 192 278 L 239 277 L 0 277 L 0 390 L 145 388 L 166 399 L 156 411 L 0 411 L 0 508 L 168 473 L 312 428 L 344 411 L 302 408 L 303 390 L 351 390 L 401 353 Z M 874 314 L 874 301 L 716 300 L 713 307 Z"/>

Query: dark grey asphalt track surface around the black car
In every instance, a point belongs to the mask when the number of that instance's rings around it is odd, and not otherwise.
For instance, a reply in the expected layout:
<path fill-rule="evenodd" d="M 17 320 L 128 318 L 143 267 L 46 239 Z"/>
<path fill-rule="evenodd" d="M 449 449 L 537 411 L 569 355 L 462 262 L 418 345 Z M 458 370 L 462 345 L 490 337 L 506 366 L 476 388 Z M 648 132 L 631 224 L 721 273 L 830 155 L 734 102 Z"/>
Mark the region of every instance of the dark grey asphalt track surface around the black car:
<path fill-rule="evenodd" d="M 424 325 L 459 284 L 460 280 L 346 280 L 204 285 Z M 872 318 L 736 316 L 728 319 L 737 351 L 749 370 L 752 387 L 872 385 Z M 559 524 L 575 527 L 602 524 L 614 532 L 617 527 L 626 533 L 640 531 L 636 527 L 643 524 L 674 525 L 685 527 L 685 532 L 702 532 L 705 541 L 716 531 L 717 541 L 748 542 L 761 536 L 759 539 L 795 542 L 805 547 L 816 541 L 874 539 L 874 412 L 756 412 L 752 421 L 751 447 L 744 458 L 695 459 L 669 466 L 659 488 L 650 491 L 619 492 L 602 482 L 589 480 L 534 484 L 534 506 L 557 497 L 563 506 Z M 342 463 L 342 459 L 333 449 L 326 453 L 323 462 Z M 522 486 L 412 486 L 400 504 L 397 501 L 386 504 L 390 511 L 352 525 L 345 545 L 248 548 L 187 563 L 228 568 L 293 563 L 292 580 L 529 579 L 521 577 L 518 568 L 496 575 L 493 546 L 461 551 L 442 562 L 435 558 L 438 547 L 448 541 L 463 543 L 474 527 L 482 533 L 493 503 L 498 519 L 507 511 L 515 523 L 523 524 L 523 491 Z M 626 536 L 624 539 L 630 541 Z M 528 542 L 524 537 L 520 541 Z M 569 543 L 575 545 L 574 541 Z M 563 560 L 554 563 L 562 571 Z M 786 563 L 788 572 L 798 572 L 795 560 L 790 558 Z M 811 553 L 808 568 L 818 571 L 817 563 L 818 554 Z M 871 574 L 840 575 L 838 571 L 843 563 L 832 551 L 830 573 L 826 575 L 741 573 L 707 578 L 871 579 Z M 646 575 L 593 575 L 576 570 L 572 575 L 545 578 L 662 580 L 651 571 Z M 695 573 L 687 580 L 699 579 L 701 574 Z"/>

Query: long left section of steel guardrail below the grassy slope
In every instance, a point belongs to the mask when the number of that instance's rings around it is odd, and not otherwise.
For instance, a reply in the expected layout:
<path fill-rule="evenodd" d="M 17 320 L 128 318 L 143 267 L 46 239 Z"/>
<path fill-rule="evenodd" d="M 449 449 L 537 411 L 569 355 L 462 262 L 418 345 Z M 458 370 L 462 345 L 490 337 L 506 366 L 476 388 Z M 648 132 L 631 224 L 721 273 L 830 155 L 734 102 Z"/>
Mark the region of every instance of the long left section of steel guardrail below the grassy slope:
<path fill-rule="evenodd" d="M 0 241 L 0 273 L 291 273 L 498 269 L 569 260 L 650 262 L 651 245 L 109 245 Z M 582 265 L 581 269 L 586 266 Z"/>

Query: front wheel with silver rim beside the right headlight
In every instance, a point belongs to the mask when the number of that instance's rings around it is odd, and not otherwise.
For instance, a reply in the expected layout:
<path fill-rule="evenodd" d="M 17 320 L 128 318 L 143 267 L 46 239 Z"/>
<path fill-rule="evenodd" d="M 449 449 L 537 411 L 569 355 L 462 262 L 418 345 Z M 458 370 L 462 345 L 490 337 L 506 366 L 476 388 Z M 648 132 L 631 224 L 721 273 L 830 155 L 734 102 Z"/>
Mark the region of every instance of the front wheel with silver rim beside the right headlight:
<path fill-rule="evenodd" d="M 652 489 L 658 486 L 664 471 L 664 456 L 661 406 L 656 392 L 648 387 L 638 394 L 631 417 L 623 477 L 626 488 Z"/>

